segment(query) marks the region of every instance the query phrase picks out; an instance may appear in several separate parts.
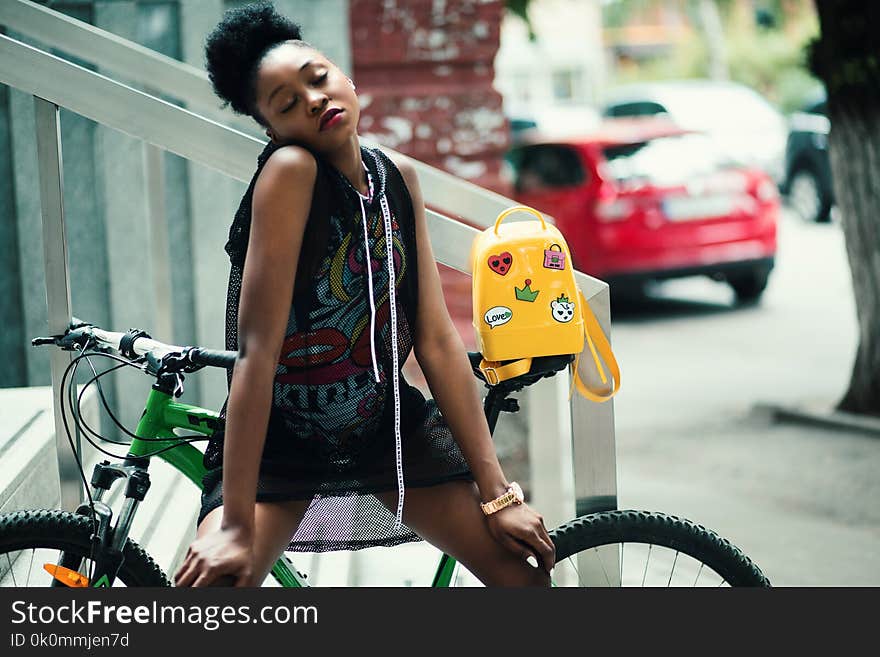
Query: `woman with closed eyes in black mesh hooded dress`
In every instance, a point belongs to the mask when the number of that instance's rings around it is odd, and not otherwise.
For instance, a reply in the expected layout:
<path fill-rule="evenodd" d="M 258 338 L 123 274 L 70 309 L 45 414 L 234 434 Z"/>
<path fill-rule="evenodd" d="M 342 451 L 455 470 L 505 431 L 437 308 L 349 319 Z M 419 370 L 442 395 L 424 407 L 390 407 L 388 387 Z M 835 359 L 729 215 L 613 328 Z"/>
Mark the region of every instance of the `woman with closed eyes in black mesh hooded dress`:
<path fill-rule="evenodd" d="M 300 37 L 259 3 L 206 42 L 215 92 L 270 142 L 226 245 L 239 356 L 175 582 L 257 586 L 286 549 L 425 539 L 487 585 L 547 586 L 553 544 L 505 495 L 415 171 L 360 146 L 354 84 Z M 433 400 L 403 379 L 410 350 Z"/>

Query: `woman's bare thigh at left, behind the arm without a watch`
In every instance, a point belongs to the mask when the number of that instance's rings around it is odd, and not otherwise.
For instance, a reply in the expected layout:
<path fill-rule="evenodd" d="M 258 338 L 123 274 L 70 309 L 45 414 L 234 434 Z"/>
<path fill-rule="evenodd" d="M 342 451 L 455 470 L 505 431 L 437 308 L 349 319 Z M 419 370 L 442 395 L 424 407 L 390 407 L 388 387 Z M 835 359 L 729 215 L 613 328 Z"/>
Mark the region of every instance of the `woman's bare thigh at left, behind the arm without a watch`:
<path fill-rule="evenodd" d="M 262 581 L 290 543 L 311 500 L 285 502 L 257 502 L 254 507 L 254 576 Z M 219 529 L 223 520 L 223 507 L 212 510 L 199 525 L 197 536 Z M 226 580 L 226 578 L 223 578 Z M 228 584 L 228 580 L 216 583 Z"/>

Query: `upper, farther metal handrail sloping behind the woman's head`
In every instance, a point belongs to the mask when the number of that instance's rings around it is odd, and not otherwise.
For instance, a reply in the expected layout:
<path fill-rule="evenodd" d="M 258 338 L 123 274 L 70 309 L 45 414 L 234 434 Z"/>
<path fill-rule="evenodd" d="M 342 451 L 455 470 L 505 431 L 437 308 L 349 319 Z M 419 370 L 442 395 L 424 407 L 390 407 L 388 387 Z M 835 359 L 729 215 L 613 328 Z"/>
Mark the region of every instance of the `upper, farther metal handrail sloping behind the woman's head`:
<path fill-rule="evenodd" d="M 0 2 L 0 25 L 39 39 L 40 42 L 83 61 L 98 64 L 103 70 L 111 71 L 124 80 L 137 82 L 151 91 L 176 98 L 186 103 L 187 107 L 231 125 L 239 132 L 256 134 L 249 120 L 229 110 L 220 109 L 219 101 L 211 89 L 208 74 L 195 66 L 166 57 L 111 32 L 29 0 Z M 42 97 L 48 98 L 48 96 Z M 200 139 L 194 141 L 198 142 Z M 361 141 L 365 146 L 378 146 L 370 139 L 361 138 Z M 172 148 L 168 150 L 173 151 Z M 394 153 L 385 146 L 382 150 L 389 154 Z M 184 155 L 184 157 L 188 156 Z M 456 178 L 418 160 L 412 160 L 412 164 L 422 183 L 425 203 L 429 207 L 443 210 L 447 216 L 487 227 L 512 203 L 510 199 L 500 194 Z M 253 158 L 247 161 L 247 167 L 253 167 Z"/>

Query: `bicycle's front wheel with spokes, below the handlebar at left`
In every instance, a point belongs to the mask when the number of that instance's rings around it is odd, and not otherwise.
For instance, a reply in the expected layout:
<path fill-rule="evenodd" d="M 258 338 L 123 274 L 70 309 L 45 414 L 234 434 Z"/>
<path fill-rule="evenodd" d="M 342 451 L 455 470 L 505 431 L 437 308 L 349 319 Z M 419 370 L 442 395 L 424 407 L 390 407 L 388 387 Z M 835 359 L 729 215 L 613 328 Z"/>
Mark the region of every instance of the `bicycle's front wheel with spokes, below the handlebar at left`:
<path fill-rule="evenodd" d="M 92 521 L 61 510 L 15 511 L 0 515 L 0 586 L 58 586 L 46 570 L 64 566 L 86 575 L 93 566 Z M 134 541 L 123 549 L 124 561 L 114 586 L 170 586 L 162 569 Z"/>

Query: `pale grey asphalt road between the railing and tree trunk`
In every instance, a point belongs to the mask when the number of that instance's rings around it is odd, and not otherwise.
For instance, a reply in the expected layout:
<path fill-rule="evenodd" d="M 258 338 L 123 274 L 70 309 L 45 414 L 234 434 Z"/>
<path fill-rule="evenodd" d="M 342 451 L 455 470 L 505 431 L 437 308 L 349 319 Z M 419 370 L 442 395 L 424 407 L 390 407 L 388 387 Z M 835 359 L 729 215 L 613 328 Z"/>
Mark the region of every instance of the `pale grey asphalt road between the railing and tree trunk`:
<path fill-rule="evenodd" d="M 620 508 L 682 515 L 776 585 L 880 584 L 880 438 L 773 424 L 759 403 L 831 408 L 857 345 L 837 224 L 784 213 L 760 303 L 709 279 L 612 306 Z"/>

